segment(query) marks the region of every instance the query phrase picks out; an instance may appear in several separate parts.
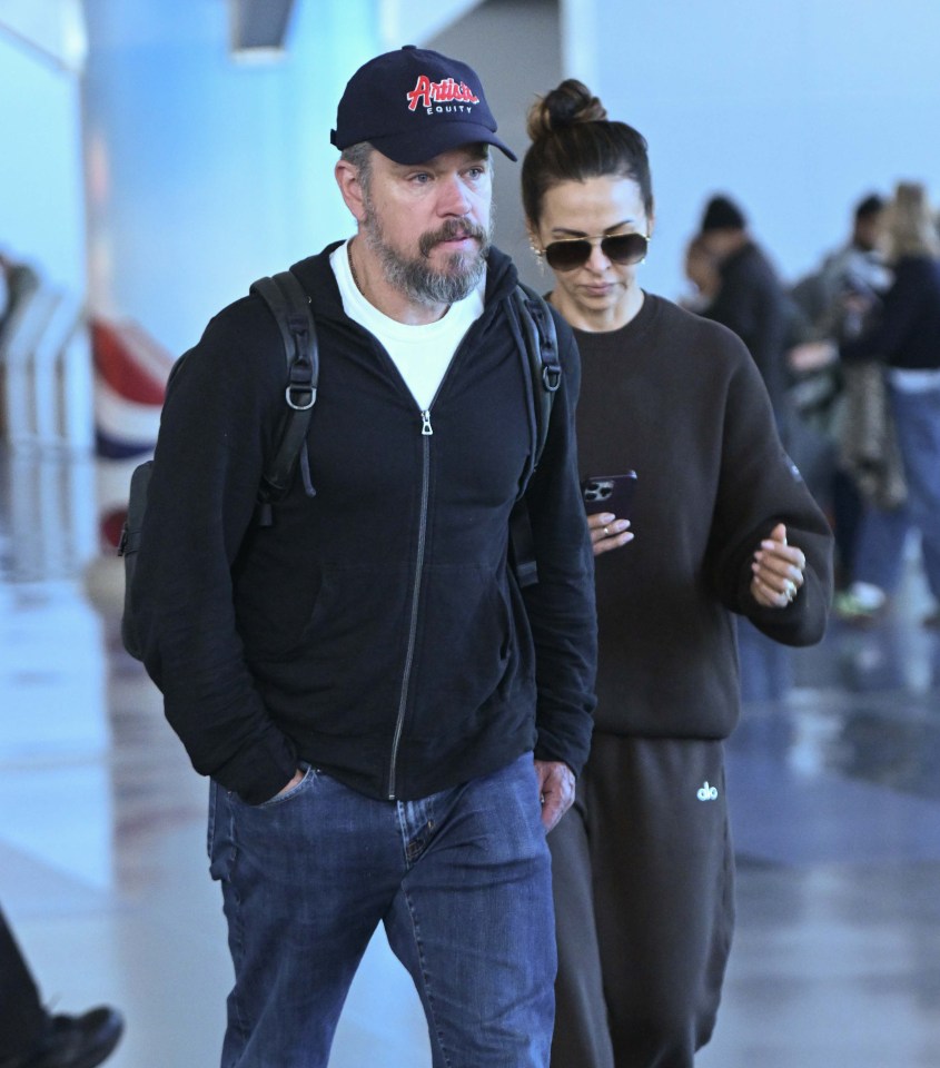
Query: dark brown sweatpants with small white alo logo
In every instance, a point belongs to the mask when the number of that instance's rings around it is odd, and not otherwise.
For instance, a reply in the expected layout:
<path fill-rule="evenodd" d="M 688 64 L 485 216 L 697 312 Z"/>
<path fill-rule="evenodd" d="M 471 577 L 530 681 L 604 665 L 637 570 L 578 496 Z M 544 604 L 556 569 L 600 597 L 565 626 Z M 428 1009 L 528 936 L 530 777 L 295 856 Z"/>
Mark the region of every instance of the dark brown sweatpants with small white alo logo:
<path fill-rule="evenodd" d="M 734 926 L 722 743 L 595 732 L 548 844 L 552 1068 L 692 1068 Z"/>

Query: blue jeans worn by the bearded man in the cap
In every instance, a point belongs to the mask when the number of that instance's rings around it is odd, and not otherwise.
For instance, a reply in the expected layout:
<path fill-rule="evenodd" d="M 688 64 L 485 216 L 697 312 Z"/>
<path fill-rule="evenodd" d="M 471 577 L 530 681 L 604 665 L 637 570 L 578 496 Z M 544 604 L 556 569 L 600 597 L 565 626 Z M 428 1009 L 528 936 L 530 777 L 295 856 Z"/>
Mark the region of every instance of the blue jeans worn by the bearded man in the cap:
<path fill-rule="evenodd" d="M 235 987 L 222 1068 L 326 1068 L 379 922 L 427 1016 L 435 1068 L 544 1068 L 554 1020 L 551 860 L 532 754 L 420 801 L 314 768 L 253 807 L 211 785 Z"/>

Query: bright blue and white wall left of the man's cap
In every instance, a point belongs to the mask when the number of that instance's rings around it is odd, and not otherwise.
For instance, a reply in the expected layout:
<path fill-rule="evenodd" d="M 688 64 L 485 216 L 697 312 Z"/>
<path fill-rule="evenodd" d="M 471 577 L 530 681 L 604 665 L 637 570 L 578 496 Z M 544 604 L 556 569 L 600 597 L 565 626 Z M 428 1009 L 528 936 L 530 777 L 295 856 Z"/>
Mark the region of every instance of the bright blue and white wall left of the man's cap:
<path fill-rule="evenodd" d="M 374 0 L 299 2 L 279 61 L 219 0 L 86 0 L 91 300 L 174 354 L 256 277 L 346 236 L 329 131 L 377 48 Z"/>

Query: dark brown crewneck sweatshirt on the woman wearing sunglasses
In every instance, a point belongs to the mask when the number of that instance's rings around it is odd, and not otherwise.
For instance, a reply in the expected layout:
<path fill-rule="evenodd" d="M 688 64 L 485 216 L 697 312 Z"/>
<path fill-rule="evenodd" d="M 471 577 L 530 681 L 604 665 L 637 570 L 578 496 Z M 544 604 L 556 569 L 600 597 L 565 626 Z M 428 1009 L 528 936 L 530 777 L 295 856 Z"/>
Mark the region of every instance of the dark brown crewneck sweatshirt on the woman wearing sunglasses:
<path fill-rule="evenodd" d="M 789 645 L 823 635 L 832 534 L 780 444 L 756 365 L 731 330 L 646 295 L 620 330 L 576 330 L 583 476 L 637 473 L 635 538 L 598 556 L 596 730 L 724 738 L 739 715 L 730 613 Z M 807 555 L 786 609 L 751 596 L 778 523 Z"/>

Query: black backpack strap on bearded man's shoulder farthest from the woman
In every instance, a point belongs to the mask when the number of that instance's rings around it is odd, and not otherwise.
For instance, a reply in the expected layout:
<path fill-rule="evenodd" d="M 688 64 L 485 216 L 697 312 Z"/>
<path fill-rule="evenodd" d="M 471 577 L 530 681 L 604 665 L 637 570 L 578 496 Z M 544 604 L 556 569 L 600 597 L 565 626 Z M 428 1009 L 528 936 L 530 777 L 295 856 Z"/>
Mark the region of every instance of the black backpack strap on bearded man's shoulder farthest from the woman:
<path fill-rule="evenodd" d="M 259 523 L 267 526 L 271 522 L 271 502 L 289 485 L 298 456 L 301 463 L 306 459 L 304 446 L 310 413 L 317 399 L 319 353 L 310 298 L 291 271 L 281 270 L 271 277 L 259 278 L 251 284 L 250 291 L 258 294 L 270 309 L 280 329 L 287 360 L 287 385 L 284 390 L 287 411 L 258 493 Z M 304 473 L 307 494 L 314 496 L 316 491 L 310 484 L 307 464 L 304 464 Z"/>

